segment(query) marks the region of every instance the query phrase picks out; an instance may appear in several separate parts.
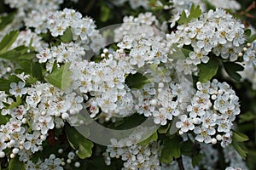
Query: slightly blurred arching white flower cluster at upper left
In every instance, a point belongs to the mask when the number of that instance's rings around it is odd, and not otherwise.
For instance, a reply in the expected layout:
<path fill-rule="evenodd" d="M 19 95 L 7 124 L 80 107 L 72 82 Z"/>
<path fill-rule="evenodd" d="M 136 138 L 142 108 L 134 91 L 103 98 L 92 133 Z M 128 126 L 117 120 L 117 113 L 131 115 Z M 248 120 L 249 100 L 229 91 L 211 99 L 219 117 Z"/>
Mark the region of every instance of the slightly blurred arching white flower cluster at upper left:
<path fill-rule="evenodd" d="M 70 29 L 73 40 L 87 46 L 86 49 L 97 52 L 102 48 L 103 39 L 94 21 L 89 17 L 82 17 L 82 14 L 73 9 L 64 8 L 62 11 L 49 12 L 42 17 L 41 13 L 32 12 L 25 20 L 27 27 L 35 28 L 37 33 L 45 33 L 49 30 L 53 37 L 63 35 L 64 31 Z M 90 46 L 89 46 L 90 44 Z"/>

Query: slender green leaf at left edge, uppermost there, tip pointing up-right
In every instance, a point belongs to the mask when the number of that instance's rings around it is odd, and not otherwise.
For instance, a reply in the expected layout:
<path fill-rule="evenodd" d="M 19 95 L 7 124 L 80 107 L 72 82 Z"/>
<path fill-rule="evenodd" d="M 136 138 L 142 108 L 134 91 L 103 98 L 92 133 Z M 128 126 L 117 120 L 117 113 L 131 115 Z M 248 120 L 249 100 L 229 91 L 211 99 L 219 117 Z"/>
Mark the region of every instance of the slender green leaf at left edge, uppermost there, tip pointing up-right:
<path fill-rule="evenodd" d="M 0 54 L 5 53 L 19 36 L 19 31 L 10 31 L 0 42 Z"/>

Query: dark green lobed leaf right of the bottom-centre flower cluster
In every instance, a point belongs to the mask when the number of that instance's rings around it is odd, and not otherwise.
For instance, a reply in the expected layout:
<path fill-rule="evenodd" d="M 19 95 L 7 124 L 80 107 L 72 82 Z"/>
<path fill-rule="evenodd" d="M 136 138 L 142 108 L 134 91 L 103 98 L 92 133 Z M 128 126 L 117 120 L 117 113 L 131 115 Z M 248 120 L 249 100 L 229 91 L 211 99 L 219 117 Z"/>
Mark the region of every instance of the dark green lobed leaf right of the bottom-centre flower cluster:
<path fill-rule="evenodd" d="M 165 139 L 163 146 L 160 156 L 161 163 L 171 163 L 173 157 L 178 158 L 181 156 L 180 140 L 177 136 L 173 139 Z"/>

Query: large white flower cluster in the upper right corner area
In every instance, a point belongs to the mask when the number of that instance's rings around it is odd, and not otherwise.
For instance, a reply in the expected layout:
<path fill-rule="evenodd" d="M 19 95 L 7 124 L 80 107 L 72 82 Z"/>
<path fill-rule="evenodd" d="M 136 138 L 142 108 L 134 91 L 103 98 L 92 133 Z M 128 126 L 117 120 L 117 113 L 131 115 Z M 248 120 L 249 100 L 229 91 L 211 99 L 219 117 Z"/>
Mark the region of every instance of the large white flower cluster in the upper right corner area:
<path fill-rule="evenodd" d="M 212 52 L 223 59 L 235 61 L 245 42 L 244 26 L 223 9 L 209 10 L 199 20 L 191 20 L 186 25 L 177 26 L 177 31 L 167 34 L 167 41 L 178 47 L 191 45 L 189 58 L 183 59 L 187 65 L 207 63 Z M 190 71 L 189 71 L 190 72 Z"/>

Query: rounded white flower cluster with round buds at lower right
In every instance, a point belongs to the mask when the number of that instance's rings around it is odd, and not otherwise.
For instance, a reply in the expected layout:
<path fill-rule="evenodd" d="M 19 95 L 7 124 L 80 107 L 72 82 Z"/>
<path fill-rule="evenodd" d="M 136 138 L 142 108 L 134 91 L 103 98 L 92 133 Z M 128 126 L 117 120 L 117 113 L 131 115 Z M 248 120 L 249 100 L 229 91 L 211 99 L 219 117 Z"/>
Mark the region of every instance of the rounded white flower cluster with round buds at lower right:
<path fill-rule="evenodd" d="M 224 147 L 232 142 L 231 127 L 240 113 L 240 105 L 235 91 L 226 82 L 197 82 L 197 91 L 191 105 L 188 105 L 189 115 L 180 116 L 176 126 L 179 133 L 193 130 L 195 140 L 216 144 L 221 141 Z M 216 135 L 216 136 L 215 136 Z M 215 136 L 215 137 L 214 137 Z"/>

